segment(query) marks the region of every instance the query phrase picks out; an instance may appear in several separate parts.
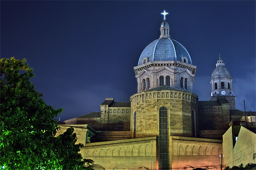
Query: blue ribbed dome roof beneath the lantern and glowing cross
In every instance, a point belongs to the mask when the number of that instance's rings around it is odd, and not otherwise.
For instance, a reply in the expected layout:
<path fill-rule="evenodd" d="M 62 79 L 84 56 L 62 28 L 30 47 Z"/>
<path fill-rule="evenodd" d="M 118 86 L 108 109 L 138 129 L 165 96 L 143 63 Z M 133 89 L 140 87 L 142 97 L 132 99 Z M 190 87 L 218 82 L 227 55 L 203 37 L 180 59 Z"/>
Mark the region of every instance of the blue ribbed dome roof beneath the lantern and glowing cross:
<path fill-rule="evenodd" d="M 148 57 L 151 61 L 182 61 L 181 57 L 188 58 L 188 64 L 192 64 L 187 50 L 177 41 L 171 38 L 159 38 L 148 45 L 141 53 L 138 65 L 142 64 L 142 58 Z"/>

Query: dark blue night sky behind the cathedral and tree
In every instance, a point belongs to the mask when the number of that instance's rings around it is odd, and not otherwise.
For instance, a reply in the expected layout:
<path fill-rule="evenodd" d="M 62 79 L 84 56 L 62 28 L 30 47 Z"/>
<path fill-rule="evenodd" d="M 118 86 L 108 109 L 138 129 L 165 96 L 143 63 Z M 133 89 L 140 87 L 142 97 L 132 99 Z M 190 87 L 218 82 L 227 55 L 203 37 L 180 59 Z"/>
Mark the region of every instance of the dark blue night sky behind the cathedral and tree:
<path fill-rule="evenodd" d="M 255 1 L 0 1 L 1 58 L 26 58 L 35 89 L 61 120 L 94 111 L 107 97 L 137 93 L 133 70 L 159 38 L 166 10 L 171 38 L 197 66 L 194 93 L 210 100 L 218 55 L 236 108 L 255 111 Z M 59 118 L 59 116 L 58 116 Z"/>

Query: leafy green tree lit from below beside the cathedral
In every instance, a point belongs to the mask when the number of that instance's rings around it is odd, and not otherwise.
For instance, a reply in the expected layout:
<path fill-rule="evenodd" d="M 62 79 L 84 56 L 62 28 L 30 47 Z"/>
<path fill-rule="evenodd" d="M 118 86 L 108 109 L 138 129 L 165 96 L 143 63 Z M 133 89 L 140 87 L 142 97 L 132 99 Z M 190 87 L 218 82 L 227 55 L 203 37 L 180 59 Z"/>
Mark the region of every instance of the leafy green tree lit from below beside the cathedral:
<path fill-rule="evenodd" d="M 34 76 L 26 60 L 0 60 L 1 166 L 3 169 L 79 169 L 82 144 L 75 145 L 73 128 L 55 137 L 54 117 L 62 108 L 46 105 L 30 82 Z"/>

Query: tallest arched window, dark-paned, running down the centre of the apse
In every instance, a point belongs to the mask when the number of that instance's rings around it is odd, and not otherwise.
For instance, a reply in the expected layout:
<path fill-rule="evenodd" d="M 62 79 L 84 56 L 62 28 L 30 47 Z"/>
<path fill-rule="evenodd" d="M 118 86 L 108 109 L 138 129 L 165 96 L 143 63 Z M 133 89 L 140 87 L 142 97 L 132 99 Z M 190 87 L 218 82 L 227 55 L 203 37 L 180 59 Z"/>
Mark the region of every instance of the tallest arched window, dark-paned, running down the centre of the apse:
<path fill-rule="evenodd" d="M 159 143 L 158 163 L 159 169 L 170 169 L 169 167 L 169 135 L 168 135 L 168 110 L 165 106 L 159 108 Z"/>

